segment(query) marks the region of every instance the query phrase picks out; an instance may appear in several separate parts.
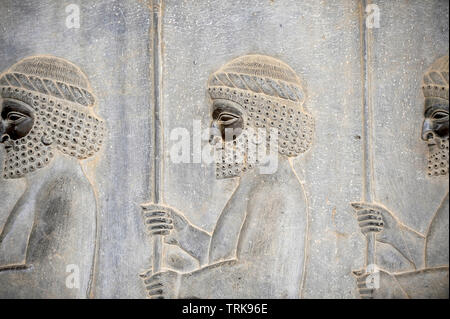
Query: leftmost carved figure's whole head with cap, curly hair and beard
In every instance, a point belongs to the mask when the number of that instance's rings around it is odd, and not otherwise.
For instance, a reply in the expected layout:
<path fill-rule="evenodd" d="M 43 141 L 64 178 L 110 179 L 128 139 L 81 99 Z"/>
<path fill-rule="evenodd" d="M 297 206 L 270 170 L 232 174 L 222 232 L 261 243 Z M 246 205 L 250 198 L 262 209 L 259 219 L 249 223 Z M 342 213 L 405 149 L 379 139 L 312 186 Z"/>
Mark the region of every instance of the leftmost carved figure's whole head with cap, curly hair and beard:
<path fill-rule="evenodd" d="M 25 58 L 0 75 L 4 178 L 45 167 L 56 151 L 82 160 L 100 150 L 104 123 L 89 91 L 84 73 L 56 57 Z"/>

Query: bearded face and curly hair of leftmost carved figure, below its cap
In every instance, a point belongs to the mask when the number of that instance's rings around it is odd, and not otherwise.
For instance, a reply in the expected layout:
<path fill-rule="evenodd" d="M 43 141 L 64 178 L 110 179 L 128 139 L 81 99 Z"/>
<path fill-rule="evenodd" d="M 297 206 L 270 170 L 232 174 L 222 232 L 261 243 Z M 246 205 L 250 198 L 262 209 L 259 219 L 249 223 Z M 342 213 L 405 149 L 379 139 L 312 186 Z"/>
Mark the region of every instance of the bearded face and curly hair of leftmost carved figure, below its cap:
<path fill-rule="evenodd" d="M 104 124 L 90 110 L 25 90 L 0 92 L 4 178 L 24 177 L 45 167 L 56 150 L 77 159 L 100 150 Z"/>

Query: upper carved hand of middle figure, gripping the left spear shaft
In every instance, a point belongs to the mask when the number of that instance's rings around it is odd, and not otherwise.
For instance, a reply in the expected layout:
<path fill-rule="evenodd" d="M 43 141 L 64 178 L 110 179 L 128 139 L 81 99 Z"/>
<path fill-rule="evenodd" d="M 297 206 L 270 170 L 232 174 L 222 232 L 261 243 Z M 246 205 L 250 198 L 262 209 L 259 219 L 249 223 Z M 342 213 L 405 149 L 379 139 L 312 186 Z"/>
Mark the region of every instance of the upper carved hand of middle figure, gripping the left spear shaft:
<path fill-rule="evenodd" d="M 171 207 L 153 203 L 142 205 L 142 210 L 145 226 L 151 235 L 163 235 L 166 243 L 179 244 L 179 234 L 189 225 L 181 213 Z"/>

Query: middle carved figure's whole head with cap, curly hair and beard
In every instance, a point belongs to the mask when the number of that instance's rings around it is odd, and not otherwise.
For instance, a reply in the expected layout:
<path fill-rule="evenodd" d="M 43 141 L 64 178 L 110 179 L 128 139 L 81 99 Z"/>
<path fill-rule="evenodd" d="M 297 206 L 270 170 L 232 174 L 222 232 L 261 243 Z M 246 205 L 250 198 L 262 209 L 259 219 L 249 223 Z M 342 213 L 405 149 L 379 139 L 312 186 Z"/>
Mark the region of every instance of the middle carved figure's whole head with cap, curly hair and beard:
<path fill-rule="evenodd" d="M 217 178 L 264 166 L 274 149 L 276 156 L 294 157 L 310 148 L 314 119 L 303 109 L 299 78 L 282 61 L 261 55 L 232 60 L 210 77 L 208 91 L 211 129 L 222 142 Z"/>

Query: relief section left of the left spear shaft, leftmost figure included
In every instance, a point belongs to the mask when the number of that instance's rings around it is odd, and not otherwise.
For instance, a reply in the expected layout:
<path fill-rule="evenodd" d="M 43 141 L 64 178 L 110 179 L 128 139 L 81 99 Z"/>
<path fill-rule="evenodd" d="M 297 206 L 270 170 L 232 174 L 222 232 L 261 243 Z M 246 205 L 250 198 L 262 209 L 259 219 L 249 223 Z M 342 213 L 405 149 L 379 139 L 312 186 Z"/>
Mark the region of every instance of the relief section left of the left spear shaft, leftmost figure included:
<path fill-rule="evenodd" d="M 34 97 L 39 95 L 39 99 L 36 100 L 39 109 L 35 111 L 33 108 L 32 111 L 36 113 L 35 118 L 39 119 L 41 129 L 35 129 L 33 132 L 36 134 L 48 133 L 51 145 L 43 144 L 41 135 L 36 136 L 37 143 L 41 150 L 49 150 L 54 155 L 48 165 L 28 173 L 26 177 L 5 179 L 2 169 L 0 232 L 5 234 L 5 238 L 0 245 L 0 267 L 8 268 L 25 264 L 27 243 L 32 232 L 35 214 L 39 212 L 49 212 L 55 215 L 55 218 L 58 217 L 64 221 L 64 223 L 55 221 L 49 226 L 55 225 L 55 223 L 58 225 L 54 231 L 61 239 L 56 241 L 57 245 L 61 245 L 58 246 L 58 249 L 65 249 L 69 245 L 74 250 L 74 252 L 65 252 L 54 258 L 53 267 L 58 268 L 55 269 L 55 272 L 42 271 L 39 276 L 33 277 L 34 283 L 39 281 L 39 285 L 34 285 L 30 281 L 11 282 L 6 277 L 14 276 L 12 272 L 0 271 L 0 296 L 2 298 L 30 295 L 36 298 L 55 296 L 145 298 L 145 287 L 142 286 L 142 281 L 136 274 L 144 269 L 142 265 L 151 255 L 152 249 L 145 235 L 139 206 L 139 203 L 148 200 L 151 189 L 152 162 L 150 158 L 153 129 L 152 54 L 149 50 L 151 47 L 149 36 L 152 24 L 151 6 L 146 2 L 134 0 L 82 1 L 78 3 L 80 27 L 69 28 L 66 22 L 70 19 L 73 11 L 66 11 L 66 9 L 70 4 L 73 2 L 6 0 L 2 1 L 0 5 L 0 29 L 2 30 L 0 34 L 2 43 L 0 72 L 12 74 L 14 76 L 12 81 L 14 82 L 16 79 L 18 83 L 22 83 L 22 78 L 17 78 L 15 73 L 24 74 L 29 82 L 25 82 L 26 85 L 35 88 L 31 100 L 16 104 L 22 106 L 24 103 L 30 103 L 31 107 L 34 107 Z M 17 21 L 21 21 L 21 23 L 17 23 Z M 71 25 L 69 24 L 69 26 Z M 60 78 L 56 79 L 46 77 L 45 73 L 36 76 L 38 68 L 36 70 L 29 68 L 29 73 L 24 73 L 23 66 L 20 70 L 11 69 L 19 61 L 27 61 L 26 59 L 34 56 L 57 57 L 55 58 L 56 64 L 50 67 L 51 70 L 59 69 L 60 61 L 70 61 L 71 63 L 68 65 L 73 64 L 76 67 L 68 66 L 67 72 L 60 73 Z M 89 81 L 90 89 L 87 89 L 81 80 L 73 82 L 75 70 L 82 70 Z M 33 77 L 34 80 L 30 77 Z M 42 86 L 36 78 L 41 79 Z M 54 85 L 50 82 L 45 83 L 43 79 L 51 80 Z M 70 79 L 72 80 L 70 81 Z M 8 78 L 6 81 L 10 83 Z M 64 86 L 60 88 L 58 82 L 65 84 L 66 88 Z M 8 86 L 11 86 L 13 90 L 17 88 L 19 91 L 26 89 L 22 85 L 14 86 L 13 83 Z M 75 91 L 71 86 L 75 88 Z M 47 95 L 41 93 L 42 88 L 45 88 Z M 78 94 L 77 88 L 81 92 L 80 94 Z M 53 89 L 54 91 L 52 91 Z M 95 96 L 94 107 L 90 106 L 92 104 L 90 98 L 83 90 Z M 78 159 L 83 155 L 81 148 L 78 148 L 78 145 L 81 146 L 81 144 L 76 144 L 76 156 L 71 156 L 72 142 L 76 136 L 69 135 L 70 140 L 67 140 L 66 132 L 60 131 L 59 125 L 55 130 L 56 135 L 51 134 L 53 127 L 49 127 L 46 122 L 50 120 L 53 125 L 53 117 L 44 118 L 44 115 L 48 115 L 50 101 L 55 103 L 53 113 L 58 110 L 56 101 L 59 99 L 55 96 L 58 94 L 57 92 L 62 97 L 65 97 L 66 93 L 70 94 L 68 95 L 69 99 L 63 99 L 64 103 L 61 103 L 63 108 L 71 106 L 71 111 L 75 109 L 79 115 L 81 114 L 80 110 L 85 110 L 86 116 L 90 115 L 90 112 L 87 111 L 92 110 L 95 112 L 96 118 L 104 122 L 106 130 L 103 132 L 105 137 L 102 139 L 100 151 L 95 152 L 96 144 L 89 144 L 94 146 L 94 156 Z M 46 101 L 41 101 L 41 96 L 46 97 Z M 88 106 L 83 105 L 85 102 Z M 45 110 L 43 109 L 44 105 Z M 45 112 L 42 116 L 40 115 L 41 111 Z M 75 117 L 75 122 L 71 122 L 72 114 L 67 113 L 67 119 L 64 119 L 62 117 L 64 109 L 59 112 L 60 114 L 55 116 L 58 118 L 58 123 L 66 121 L 66 124 L 63 125 L 64 130 L 73 129 L 79 125 L 78 116 Z M 79 143 L 83 141 L 83 132 L 88 129 L 87 123 L 90 123 L 88 119 L 83 122 L 82 129 L 79 131 Z M 25 125 L 26 121 L 21 124 Z M 73 125 L 73 128 L 70 125 Z M 61 144 L 58 144 L 59 137 L 57 135 L 60 132 L 64 136 Z M 90 131 L 91 134 L 93 132 L 93 130 Z M 90 135 L 87 136 L 89 139 L 92 138 Z M 46 138 L 43 140 L 48 142 Z M 63 142 L 66 143 L 66 147 L 62 144 Z M 4 144 L 1 146 L 0 163 L 3 166 L 8 155 Z M 25 144 L 25 146 L 27 145 Z M 67 149 L 66 153 L 63 152 L 65 148 Z M 87 149 L 87 152 L 90 151 Z M 10 152 L 8 154 L 12 156 L 14 150 L 11 149 Z M 49 152 L 47 152 L 48 154 Z M 45 157 L 42 157 L 42 161 L 44 163 Z M 60 163 L 61 161 L 62 163 Z M 71 164 L 63 165 L 66 162 Z M 58 174 L 55 169 L 58 170 Z M 64 176 L 67 176 L 64 174 L 75 175 L 72 179 L 66 180 L 63 179 Z M 35 178 L 33 182 L 28 183 L 26 179 L 31 175 L 42 177 Z M 58 176 L 60 179 L 54 183 L 50 182 L 51 179 Z M 82 181 L 82 183 L 80 182 L 81 186 L 76 187 L 78 191 L 73 191 L 72 185 L 79 183 L 78 180 Z M 33 194 L 30 194 L 30 187 Z M 36 193 L 38 190 L 42 191 Z M 67 201 L 65 197 L 55 198 L 56 194 L 65 192 L 65 190 L 71 194 L 71 201 Z M 25 195 L 25 192 L 28 192 L 28 195 Z M 36 205 L 40 207 L 38 207 L 39 210 L 34 208 L 35 203 L 32 201 L 23 200 L 29 197 L 36 199 L 45 196 L 51 196 L 53 199 L 38 200 Z M 61 203 L 58 204 L 58 201 Z M 62 210 L 53 209 L 62 204 L 68 206 L 65 210 L 67 214 Z M 72 207 L 73 205 L 81 205 L 84 208 Z M 10 217 L 13 211 L 16 212 L 16 216 Z M 97 222 L 92 217 L 95 216 L 95 213 Z M 85 215 L 88 215 L 89 218 L 84 218 Z M 42 218 L 44 217 L 42 216 Z M 9 220 L 14 219 L 14 222 L 7 222 L 8 218 Z M 72 230 L 72 226 L 69 227 L 68 222 L 75 223 L 76 227 L 73 227 Z M 7 223 L 11 226 L 5 226 Z M 42 228 L 46 224 L 40 223 L 39 225 L 39 228 L 35 227 L 35 235 L 33 235 L 36 240 L 43 233 L 49 231 L 45 227 Z M 67 227 L 61 229 L 63 225 Z M 96 230 L 93 230 L 94 228 Z M 33 242 L 36 243 L 36 240 Z M 52 244 L 46 247 L 52 251 L 55 248 L 52 245 L 55 245 L 53 240 Z M 95 262 L 92 261 L 94 248 L 97 251 Z M 78 249 L 80 249 L 80 253 L 84 251 L 86 256 L 81 256 L 79 261 L 73 261 L 74 254 L 79 253 Z M 28 251 L 30 251 L 30 247 Z M 45 251 L 33 249 L 33 252 L 36 259 L 44 258 Z M 88 262 L 84 260 L 89 260 L 89 267 L 87 267 Z M 34 271 L 38 270 L 37 266 L 33 267 Z M 23 270 L 22 273 L 30 273 L 31 276 L 31 270 Z M 77 273 L 80 279 L 79 285 L 75 280 Z M 47 280 L 47 282 L 40 284 L 40 280 Z M 18 286 L 9 288 L 15 282 Z M 29 285 L 26 285 L 26 282 Z M 66 283 L 68 283 L 67 286 Z M 89 284 L 90 289 L 87 289 Z"/>

